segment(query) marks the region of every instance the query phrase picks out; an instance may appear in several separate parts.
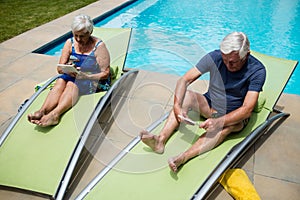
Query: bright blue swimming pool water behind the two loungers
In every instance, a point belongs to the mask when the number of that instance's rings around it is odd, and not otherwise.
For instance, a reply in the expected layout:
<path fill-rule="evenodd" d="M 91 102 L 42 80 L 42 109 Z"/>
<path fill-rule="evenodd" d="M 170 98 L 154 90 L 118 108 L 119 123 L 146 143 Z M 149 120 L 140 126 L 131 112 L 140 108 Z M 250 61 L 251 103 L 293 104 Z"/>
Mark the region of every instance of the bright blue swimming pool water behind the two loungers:
<path fill-rule="evenodd" d="M 300 60 L 300 0 L 139 0 L 95 26 L 133 28 L 130 68 L 182 75 L 232 31 L 252 50 Z M 299 84 L 300 67 L 284 92 L 300 95 Z"/>

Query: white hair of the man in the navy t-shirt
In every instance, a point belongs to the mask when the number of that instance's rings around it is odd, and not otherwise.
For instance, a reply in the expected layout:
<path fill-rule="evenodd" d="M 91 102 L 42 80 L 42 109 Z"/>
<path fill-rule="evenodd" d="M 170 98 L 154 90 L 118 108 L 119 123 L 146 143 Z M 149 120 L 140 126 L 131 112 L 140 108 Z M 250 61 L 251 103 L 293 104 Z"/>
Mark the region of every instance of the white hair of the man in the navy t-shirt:
<path fill-rule="evenodd" d="M 232 32 L 222 40 L 220 50 L 224 54 L 238 51 L 240 58 L 243 59 L 250 51 L 250 42 L 243 32 Z"/>

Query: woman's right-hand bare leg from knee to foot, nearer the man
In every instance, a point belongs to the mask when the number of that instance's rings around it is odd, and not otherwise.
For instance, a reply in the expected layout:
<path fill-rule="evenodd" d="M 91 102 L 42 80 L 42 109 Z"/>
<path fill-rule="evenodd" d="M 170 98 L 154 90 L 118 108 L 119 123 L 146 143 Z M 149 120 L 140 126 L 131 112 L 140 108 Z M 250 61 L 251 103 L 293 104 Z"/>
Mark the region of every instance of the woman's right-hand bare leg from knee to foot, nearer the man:
<path fill-rule="evenodd" d="M 43 115 L 37 125 L 45 127 L 58 124 L 61 114 L 75 105 L 78 98 L 78 87 L 73 82 L 68 81 L 56 107 L 48 114 Z"/>

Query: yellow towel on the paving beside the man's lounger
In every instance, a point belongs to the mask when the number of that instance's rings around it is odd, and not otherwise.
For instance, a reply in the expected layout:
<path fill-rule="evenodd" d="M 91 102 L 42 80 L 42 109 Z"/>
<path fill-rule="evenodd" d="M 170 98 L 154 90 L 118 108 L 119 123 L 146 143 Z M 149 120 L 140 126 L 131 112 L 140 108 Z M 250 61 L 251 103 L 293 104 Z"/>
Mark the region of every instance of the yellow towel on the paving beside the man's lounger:
<path fill-rule="evenodd" d="M 234 199 L 260 200 L 246 172 L 242 169 L 229 169 L 219 182 Z"/>

